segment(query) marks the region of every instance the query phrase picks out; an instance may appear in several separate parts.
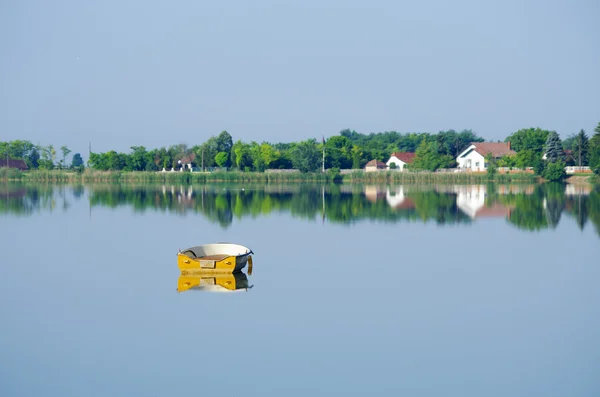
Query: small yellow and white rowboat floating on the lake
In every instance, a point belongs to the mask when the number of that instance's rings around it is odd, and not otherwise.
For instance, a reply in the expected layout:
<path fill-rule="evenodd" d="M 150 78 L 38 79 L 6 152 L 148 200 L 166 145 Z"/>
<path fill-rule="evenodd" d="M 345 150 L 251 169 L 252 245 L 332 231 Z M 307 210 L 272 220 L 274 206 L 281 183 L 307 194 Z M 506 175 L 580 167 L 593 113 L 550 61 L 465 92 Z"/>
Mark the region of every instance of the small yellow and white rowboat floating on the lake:
<path fill-rule="evenodd" d="M 202 270 L 216 273 L 235 273 L 247 263 L 252 265 L 252 250 L 239 244 L 214 243 L 179 250 L 179 270 Z"/>

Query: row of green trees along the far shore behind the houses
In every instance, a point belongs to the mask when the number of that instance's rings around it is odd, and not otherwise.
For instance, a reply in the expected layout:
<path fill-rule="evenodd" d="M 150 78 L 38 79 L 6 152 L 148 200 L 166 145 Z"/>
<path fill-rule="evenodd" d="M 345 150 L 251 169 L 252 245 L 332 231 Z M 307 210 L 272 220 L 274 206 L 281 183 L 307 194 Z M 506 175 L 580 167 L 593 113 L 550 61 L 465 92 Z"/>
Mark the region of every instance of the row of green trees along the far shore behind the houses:
<path fill-rule="evenodd" d="M 491 171 L 496 167 L 533 167 L 539 175 L 551 175 L 565 165 L 590 166 L 600 173 L 600 123 L 591 139 L 581 130 L 561 141 L 555 131 L 540 128 L 518 130 L 505 138 L 516 155 L 498 161 L 490 159 Z M 267 169 L 298 169 L 315 172 L 327 169 L 361 169 L 370 160 L 387 161 L 394 152 L 414 152 L 411 169 L 436 171 L 456 166 L 456 157 L 471 142 L 484 139 L 472 130 L 446 130 L 438 133 L 400 133 L 385 131 L 362 134 L 344 129 L 339 135 L 290 143 L 258 143 L 233 141 L 227 131 L 211 136 L 206 142 L 189 146 L 176 144 L 147 149 L 132 146 L 129 153 L 114 150 L 89 155 L 87 166 L 102 171 L 159 171 L 179 169 L 191 164 L 196 169 L 216 167 L 239 171 L 262 172 Z M 33 145 L 29 141 L 0 142 L 0 157 L 23 159 L 30 169 L 81 169 L 79 153 L 67 158 L 71 150 L 53 145 Z M 325 161 L 323 164 L 323 153 Z M 542 161 L 546 154 L 547 160 Z"/>

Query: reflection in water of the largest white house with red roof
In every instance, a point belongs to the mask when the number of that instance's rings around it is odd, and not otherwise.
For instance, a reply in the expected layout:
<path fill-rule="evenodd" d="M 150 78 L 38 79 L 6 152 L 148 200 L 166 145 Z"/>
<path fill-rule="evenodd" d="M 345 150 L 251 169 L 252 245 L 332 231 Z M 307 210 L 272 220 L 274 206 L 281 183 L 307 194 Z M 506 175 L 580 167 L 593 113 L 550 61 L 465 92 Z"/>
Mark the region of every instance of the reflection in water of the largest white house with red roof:
<path fill-rule="evenodd" d="M 471 218 L 505 218 L 510 215 L 510 207 L 494 202 L 485 203 L 486 186 L 468 185 L 454 186 L 456 192 L 456 206 Z"/>

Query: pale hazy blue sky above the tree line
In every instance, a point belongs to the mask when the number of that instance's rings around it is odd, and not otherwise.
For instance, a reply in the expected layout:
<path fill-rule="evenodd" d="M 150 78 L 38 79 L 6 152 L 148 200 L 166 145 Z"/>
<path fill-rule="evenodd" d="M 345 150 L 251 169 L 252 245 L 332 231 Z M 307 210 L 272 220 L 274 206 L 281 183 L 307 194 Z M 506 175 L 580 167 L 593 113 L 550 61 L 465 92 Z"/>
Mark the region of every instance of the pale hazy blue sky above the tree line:
<path fill-rule="evenodd" d="M 3 0 L 0 140 L 592 134 L 599 16 L 598 0 Z"/>

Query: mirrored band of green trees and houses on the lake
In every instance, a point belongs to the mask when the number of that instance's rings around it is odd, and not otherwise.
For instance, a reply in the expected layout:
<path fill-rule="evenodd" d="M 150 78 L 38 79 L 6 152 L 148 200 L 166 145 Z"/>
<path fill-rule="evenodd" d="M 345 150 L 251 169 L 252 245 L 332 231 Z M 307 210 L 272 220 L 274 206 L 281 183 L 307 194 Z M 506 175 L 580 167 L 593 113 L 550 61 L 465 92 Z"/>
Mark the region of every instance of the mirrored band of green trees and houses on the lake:
<path fill-rule="evenodd" d="M 589 186 L 543 185 L 403 185 L 316 186 L 230 185 L 123 186 L 4 185 L 0 212 L 28 215 L 68 210 L 89 191 L 91 207 L 129 206 L 136 212 L 200 213 L 222 227 L 234 219 L 272 212 L 328 222 L 435 222 L 467 224 L 479 218 L 504 218 L 519 229 L 555 228 L 561 217 L 588 222 L 600 234 L 600 192 Z"/>

